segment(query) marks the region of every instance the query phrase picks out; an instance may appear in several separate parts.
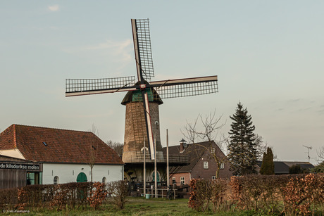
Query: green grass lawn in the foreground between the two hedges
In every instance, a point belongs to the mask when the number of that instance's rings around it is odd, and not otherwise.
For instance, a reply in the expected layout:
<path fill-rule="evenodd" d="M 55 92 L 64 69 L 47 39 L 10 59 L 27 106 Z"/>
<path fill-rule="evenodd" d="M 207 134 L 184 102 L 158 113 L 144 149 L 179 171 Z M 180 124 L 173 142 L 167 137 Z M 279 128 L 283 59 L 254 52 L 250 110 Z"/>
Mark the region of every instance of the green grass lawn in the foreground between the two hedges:
<path fill-rule="evenodd" d="M 251 212 L 221 212 L 213 214 L 208 212 L 197 212 L 187 207 L 188 199 L 166 200 L 162 198 L 128 198 L 125 209 L 116 210 L 111 203 L 101 205 L 100 210 L 92 208 L 78 210 L 48 210 L 40 208 L 38 210 L 30 210 L 23 215 L 253 215 Z M 21 215 L 14 212 L 7 212 L 4 215 Z"/>

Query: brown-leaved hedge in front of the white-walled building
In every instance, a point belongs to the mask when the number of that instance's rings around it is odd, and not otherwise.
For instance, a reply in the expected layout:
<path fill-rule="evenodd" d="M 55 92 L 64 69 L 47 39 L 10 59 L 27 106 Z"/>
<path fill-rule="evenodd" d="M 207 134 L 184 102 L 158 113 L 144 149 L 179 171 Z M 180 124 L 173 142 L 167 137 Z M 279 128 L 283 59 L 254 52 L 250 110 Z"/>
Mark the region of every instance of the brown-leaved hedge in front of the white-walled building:
<path fill-rule="evenodd" d="M 0 190 L 0 208 L 3 210 L 24 210 L 35 208 L 51 208 L 56 210 L 74 209 L 87 207 L 98 208 L 104 199 L 109 195 L 113 196 L 113 203 L 122 199 L 122 204 L 116 206 L 123 207 L 125 198 L 120 197 L 120 189 L 127 191 L 125 181 L 110 182 L 102 184 L 100 182 L 83 182 L 68 184 L 46 184 L 28 185 L 20 189 Z M 127 194 L 127 192 L 125 192 Z M 123 195 L 124 196 L 124 195 Z M 117 201 L 115 201 L 117 200 Z"/>

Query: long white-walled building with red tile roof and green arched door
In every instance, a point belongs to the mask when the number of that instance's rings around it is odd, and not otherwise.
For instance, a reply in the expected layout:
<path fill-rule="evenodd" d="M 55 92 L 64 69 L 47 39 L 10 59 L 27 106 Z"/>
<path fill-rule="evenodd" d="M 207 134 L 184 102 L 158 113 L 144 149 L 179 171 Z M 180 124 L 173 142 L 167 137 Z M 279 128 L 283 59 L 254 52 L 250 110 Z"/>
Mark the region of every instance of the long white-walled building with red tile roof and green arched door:
<path fill-rule="evenodd" d="M 90 181 L 92 158 L 93 182 L 124 178 L 123 161 L 92 132 L 11 125 L 0 134 L 0 155 L 17 158 L 17 165 L 8 166 L 16 169 L 24 167 L 22 160 L 40 164 L 42 170 L 27 172 L 25 185 Z"/>

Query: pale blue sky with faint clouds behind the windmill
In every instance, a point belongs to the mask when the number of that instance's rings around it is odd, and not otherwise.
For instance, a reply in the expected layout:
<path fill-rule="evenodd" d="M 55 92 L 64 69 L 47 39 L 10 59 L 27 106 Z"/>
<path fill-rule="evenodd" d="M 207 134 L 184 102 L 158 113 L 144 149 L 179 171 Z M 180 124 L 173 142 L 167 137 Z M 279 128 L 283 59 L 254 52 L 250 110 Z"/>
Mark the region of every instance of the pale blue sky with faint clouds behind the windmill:
<path fill-rule="evenodd" d="M 1 1 L 0 130 L 87 131 L 123 142 L 125 94 L 65 97 L 66 78 L 136 74 L 131 18 L 149 18 L 153 80 L 218 75 L 218 94 L 166 99 L 161 136 L 241 101 L 280 160 L 324 146 L 324 1 Z"/>

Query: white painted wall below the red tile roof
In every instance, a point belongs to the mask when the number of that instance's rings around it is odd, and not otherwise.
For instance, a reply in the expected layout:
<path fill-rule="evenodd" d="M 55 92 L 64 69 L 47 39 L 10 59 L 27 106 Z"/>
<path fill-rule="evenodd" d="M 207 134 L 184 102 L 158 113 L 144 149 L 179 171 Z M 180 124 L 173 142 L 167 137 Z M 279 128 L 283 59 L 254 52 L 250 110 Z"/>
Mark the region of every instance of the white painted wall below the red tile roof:
<path fill-rule="evenodd" d="M 43 163 L 43 184 L 53 184 L 56 176 L 58 176 L 58 184 L 77 182 L 77 175 L 80 172 L 84 172 L 90 182 L 90 167 L 87 164 Z M 124 166 L 94 165 L 93 182 L 102 182 L 103 177 L 106 177 L 107 182 L 123 180 Z"/>

